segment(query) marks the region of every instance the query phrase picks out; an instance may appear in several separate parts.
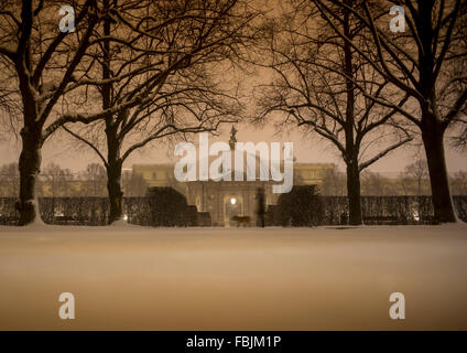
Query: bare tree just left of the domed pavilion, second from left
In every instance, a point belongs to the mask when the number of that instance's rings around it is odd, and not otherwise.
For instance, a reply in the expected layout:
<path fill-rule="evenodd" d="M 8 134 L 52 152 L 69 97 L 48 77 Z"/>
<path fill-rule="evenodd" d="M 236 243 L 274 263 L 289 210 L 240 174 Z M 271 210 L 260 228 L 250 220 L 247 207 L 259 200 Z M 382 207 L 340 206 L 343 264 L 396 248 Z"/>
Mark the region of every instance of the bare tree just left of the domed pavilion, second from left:
<path fill-rule="evenodd" d="M 89 128 L 64 129 L 102 160 L 111 223 L 122 216 L 122 164 L 132 152 L 164 137 L 216 131 L 238 117 L 235 93 L 214 73 L 249 42 L 254 12 L 240 0 L 104 2 L 112 17 L 96 39 L 100 67 L 89 73 L 102 81 L 89 85 L 104 110 L 121 108 Z M 135 96 L 138 106 L 129 105 Z"/>

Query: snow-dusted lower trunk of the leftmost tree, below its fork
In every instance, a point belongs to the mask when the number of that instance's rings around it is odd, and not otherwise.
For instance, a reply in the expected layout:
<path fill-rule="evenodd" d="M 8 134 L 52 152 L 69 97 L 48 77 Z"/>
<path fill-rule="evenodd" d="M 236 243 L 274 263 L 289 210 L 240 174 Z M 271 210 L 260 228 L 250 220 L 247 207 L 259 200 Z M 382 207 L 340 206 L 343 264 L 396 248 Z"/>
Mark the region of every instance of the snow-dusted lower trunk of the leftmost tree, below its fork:
<path fill-rule="evenodd" d="M 28 225 L 40 218 L 36 179 L 41 172 L 41 130 L 36 127 L 24 127 L 21 130 L 23 142 L 19 169 L 20 169 L 20 200 L 17 210 L 20 212 L 20 225 Z"/>

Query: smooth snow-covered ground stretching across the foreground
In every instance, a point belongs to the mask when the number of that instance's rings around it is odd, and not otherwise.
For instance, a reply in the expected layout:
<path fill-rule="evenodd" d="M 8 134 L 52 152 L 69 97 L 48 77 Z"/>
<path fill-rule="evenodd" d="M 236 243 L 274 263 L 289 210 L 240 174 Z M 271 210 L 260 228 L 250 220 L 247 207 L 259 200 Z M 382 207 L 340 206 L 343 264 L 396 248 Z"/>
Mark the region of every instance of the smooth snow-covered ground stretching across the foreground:
<path fill-rule="evenodd" d="M 466 225 L 0 227 L 0 329 L 466 330 Z"/>

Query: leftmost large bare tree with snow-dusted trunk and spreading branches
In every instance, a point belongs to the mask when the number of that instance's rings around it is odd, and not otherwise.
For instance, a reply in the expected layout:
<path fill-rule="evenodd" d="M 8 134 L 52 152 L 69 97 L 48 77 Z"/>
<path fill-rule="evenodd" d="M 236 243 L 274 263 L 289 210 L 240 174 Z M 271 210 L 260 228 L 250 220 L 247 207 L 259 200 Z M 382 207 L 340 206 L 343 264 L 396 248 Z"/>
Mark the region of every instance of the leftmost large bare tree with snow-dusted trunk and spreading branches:
<path fill-rule="evenodd" d="M 134 7 L 135 1 L 131 3 Z M 64 4 L 75 11 L 72 32 L 58 31 L 58 9 Z M 87 101 L 89 85 L 109 84 L 108 77 L 89 81 L 89 74 L 101 65 L 94 53 L 108 39 L 96 39 L 96 31 L 102 22 L 112 21 L 109 11 L 106 0 L 6 0 L 0 4 L 0 63 L 12 90 L 7 94 L 21 98 L 18 124 L 22 140 L 21 185 L 17 204 L 20 225 L 39 217 L 35 183 L 42 146 L 61 126 L 77 121 L 90 124 L 144 103 L 145 89 L 127 99 L 123 106 L 106 104 L 96 108 L 96 105 L 83 104 Z M 134 72 L 118 74 L 110 81 L 123 79 L 131 74 Z M 69 96 L 76 99 L 74 105 L 66 100 Z"/>

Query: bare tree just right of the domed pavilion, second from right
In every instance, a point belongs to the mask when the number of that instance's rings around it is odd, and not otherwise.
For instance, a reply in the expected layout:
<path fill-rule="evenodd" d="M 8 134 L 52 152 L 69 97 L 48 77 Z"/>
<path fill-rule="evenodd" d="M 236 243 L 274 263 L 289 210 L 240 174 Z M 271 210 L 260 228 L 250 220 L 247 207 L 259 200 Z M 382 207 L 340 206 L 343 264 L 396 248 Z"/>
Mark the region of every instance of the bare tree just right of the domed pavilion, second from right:
<path fill-rule="evenodd" d="M 398 109 L 379 106 L 367 96 L 395 95 L 398 107 L 408 97 L 390 89 L 389 82 L 336 35 L 341 31 L 372 50 L 349 10 L 336 8 L 339 20 L 329 25 L 308 2 L 292 4 L 290 14 L 270 25 L 264 50 L 271 60 L 265 66 L 273 69 L 276 79 L 263 89 L 257 120 L 280 111 L 285 124 L 297 124 L 337 148 L 347 169 L 349 223 L 358 225 L 362 223 L 360 172 L 412 140 L 405 129 L 390 125 Z"/>

